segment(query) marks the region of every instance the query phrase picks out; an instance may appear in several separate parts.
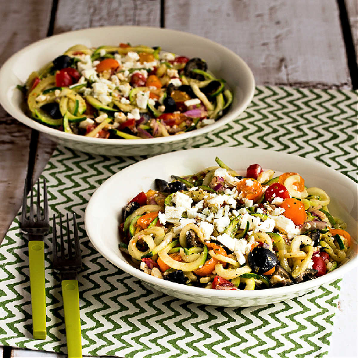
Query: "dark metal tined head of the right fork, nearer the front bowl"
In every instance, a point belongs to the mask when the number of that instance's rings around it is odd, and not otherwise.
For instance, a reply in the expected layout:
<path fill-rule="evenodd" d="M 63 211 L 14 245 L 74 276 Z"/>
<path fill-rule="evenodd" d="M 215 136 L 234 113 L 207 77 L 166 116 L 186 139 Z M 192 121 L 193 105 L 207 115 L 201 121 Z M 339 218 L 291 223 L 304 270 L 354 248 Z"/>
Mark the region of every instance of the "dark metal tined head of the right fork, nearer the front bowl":
<path fill-rule="evenodd" d="M 55 270 L 73 270 L 78 271 L 81 269 L 81 249 L 79 247 L 79 238 L 77 231 L 77 223 L 76 223 L 76 214 L 72 213 L 73 217 L 73 236 L 74 236 L 74 251 L 72 250 L 72 240 L 71 240 L 71 232 L 69 228 L 69 219 L 68 214 L 66 214 L 67 221 L 67 253 L 68 258 L 65 255 L 65 243 L 63 237 L 63 227 L 62 227 L 62 217 L 60 216 L 59 222 L 59 234 L 60 234 L 60 256 L 58 256 L 58 248 L 57 248 L 57 229 L 56 229 L 56 216 L 53 215 L 53 265 Z"/>

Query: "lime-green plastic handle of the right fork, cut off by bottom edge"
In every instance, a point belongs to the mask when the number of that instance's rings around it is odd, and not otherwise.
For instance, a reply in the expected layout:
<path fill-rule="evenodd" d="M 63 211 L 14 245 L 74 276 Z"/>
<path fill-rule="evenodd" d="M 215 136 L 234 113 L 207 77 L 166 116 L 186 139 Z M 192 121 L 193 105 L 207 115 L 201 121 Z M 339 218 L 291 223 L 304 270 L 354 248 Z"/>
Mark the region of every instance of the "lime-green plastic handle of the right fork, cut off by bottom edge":
<path fill-rule="evenodd" d="M 78 281 L 62 281 L 63 308 L 68 358 L 82 358 L 81 321 L 79 320 Z"/>

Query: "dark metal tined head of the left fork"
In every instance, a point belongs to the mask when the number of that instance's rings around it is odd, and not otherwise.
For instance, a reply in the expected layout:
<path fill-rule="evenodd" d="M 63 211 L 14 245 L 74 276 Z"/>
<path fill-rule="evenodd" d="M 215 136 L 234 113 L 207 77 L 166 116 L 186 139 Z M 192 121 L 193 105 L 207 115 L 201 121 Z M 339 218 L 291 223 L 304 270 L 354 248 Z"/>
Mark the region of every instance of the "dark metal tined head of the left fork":
<path fill-rule="evenodd" d="M 27 193 L 30 192 L 30 212 L 27 216 Z M 32 229 L 41 230 L 43 232 L 49 231 L 49 214 L 48 214 L 48 200 L 47 200 L 47 187 L 46 179 L 43 181 L 43 215 L 41 216 L 40 204 L 40 179 L 37 180 L 37 194 L 36 194 L 36 220 L 34 218 L 34 190 L 31 180 L 31 188 L 27 186 L 25 181 L 24 197 L 21 213 L 21 228 L 24 231 L 31 231 Z"/>

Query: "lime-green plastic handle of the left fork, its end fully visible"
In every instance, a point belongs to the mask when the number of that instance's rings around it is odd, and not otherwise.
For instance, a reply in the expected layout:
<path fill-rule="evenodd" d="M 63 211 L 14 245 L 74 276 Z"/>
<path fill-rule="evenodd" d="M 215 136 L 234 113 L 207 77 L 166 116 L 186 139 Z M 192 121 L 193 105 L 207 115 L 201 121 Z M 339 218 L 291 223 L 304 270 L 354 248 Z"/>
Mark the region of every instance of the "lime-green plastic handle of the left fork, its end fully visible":
<path fill-rule="evenodd" d="M 34 339 L 46 339 L 45 250 L 43 241 L 29 241 L 29 268 Z"/>

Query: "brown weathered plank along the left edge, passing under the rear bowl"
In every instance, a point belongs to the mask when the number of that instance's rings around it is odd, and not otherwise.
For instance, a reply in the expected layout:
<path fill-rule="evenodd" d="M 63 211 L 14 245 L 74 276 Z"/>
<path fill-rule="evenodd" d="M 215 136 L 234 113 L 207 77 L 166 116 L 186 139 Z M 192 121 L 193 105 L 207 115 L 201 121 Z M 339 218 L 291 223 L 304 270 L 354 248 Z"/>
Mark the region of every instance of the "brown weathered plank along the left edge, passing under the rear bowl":
<path fill-rule="evenodd" d="M 24 46 L 46 36 L 51 1 L 1 1 L 0 64 Z M 0 242 L 17 213 L 24 189 L 31 129 L 0 107 Z"/>

